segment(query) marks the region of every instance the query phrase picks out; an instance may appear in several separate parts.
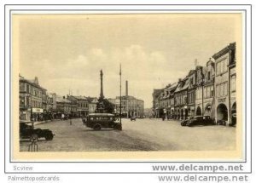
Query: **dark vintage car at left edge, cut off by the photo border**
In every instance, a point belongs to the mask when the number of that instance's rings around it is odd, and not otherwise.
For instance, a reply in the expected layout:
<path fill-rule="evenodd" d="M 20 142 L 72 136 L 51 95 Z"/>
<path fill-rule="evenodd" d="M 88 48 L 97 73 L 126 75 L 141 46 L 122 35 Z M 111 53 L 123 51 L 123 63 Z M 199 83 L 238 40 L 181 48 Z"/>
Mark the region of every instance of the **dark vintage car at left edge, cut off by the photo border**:
<path fill-rule="evenodd" d="M 53 140 L 54 135 L 49 129 L 34 129 L 31 122 L 20 121 L 20 139 L 38 140 L 38 138 L 44 138 L 45 140 Z"/>

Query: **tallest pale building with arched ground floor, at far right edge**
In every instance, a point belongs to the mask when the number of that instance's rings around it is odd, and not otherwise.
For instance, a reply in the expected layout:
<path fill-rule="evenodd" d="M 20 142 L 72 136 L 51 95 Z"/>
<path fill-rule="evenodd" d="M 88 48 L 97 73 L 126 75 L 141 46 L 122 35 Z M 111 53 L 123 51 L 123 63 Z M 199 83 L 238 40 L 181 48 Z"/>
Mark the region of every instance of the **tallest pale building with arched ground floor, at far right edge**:
<path fill-rule="evenodd" d="M 213 54 L 212 58 L 215 60 L 216 69 L 214 84 L 216 122 L 224 121 L 232 124 L 231 115 L 233 114 L 233 122 L 236 118 L 236 43 L 230 43 Z"/>

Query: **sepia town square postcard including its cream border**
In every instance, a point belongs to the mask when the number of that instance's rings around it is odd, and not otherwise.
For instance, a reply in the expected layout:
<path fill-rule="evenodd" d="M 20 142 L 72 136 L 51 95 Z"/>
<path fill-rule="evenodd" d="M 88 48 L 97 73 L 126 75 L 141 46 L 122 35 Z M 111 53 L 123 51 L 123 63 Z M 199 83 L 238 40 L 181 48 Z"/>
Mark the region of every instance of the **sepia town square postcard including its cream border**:
<path fill-rule="evenodd" d="M 241 13 L 11 20 L 14 159 L 244 157 Z"/>

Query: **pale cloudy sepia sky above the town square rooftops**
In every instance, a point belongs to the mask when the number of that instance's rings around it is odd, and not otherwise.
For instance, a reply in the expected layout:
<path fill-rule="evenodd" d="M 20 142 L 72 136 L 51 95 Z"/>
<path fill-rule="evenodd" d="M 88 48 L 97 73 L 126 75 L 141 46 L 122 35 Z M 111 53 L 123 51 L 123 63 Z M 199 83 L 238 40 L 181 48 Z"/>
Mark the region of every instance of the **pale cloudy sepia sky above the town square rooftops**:
<path fill-rule="evenodd" d="M 152 106 L 153 89 L 205 66 L 237 40 L 239 14 L 15 15 L 20 74 L 38 77 L 49 92 L 119 95 L 119 64 L 129 94 Z"/>

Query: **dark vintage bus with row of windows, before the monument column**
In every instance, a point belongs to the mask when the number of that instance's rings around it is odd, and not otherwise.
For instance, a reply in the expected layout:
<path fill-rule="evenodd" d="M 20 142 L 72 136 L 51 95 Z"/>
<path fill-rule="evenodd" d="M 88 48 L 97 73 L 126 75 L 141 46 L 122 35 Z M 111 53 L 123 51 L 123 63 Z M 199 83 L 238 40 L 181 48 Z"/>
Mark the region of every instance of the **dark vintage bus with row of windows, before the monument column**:
<path fill-rule="evenodd" d="M 94 129 L 118 129 L 122 130 L 122 124 L 119 122 L 119 117 L 115 117 L 110 113 L 91 113 L 87 116 L 85 126 Z"/>

